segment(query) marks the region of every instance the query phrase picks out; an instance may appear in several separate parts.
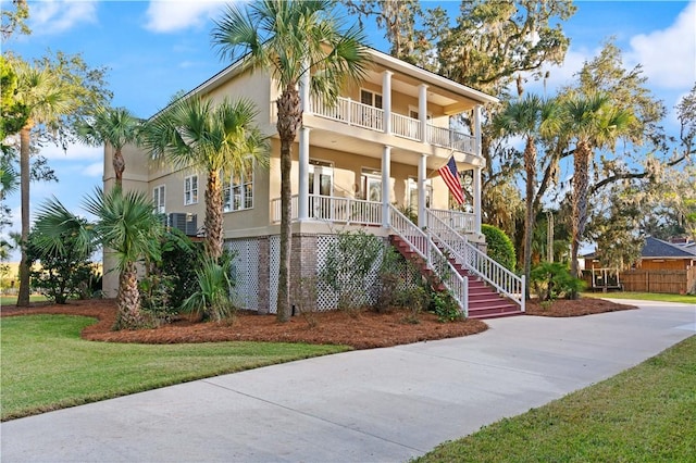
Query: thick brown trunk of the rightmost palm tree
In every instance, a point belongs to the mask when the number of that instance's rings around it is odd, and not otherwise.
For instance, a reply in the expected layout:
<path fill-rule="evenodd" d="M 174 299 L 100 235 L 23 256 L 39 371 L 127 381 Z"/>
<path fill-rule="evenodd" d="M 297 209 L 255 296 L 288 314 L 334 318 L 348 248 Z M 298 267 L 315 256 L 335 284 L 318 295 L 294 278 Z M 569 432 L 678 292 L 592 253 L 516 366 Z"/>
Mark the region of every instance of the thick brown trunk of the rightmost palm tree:
<path fill-rule="evenodd" d="M 589 159 L 592 157 L 592 148 L 586 141 L 580 141 L 575 149 L 573 174 L 573 233 L 571 246 L 571 266 L 570 273 L 575 277 L 580 277 L 580 265 L 577 263 L 577 252 L 580 251 L 580 241 L 585 233 L 585 224 L 587 223 L 587 187 L 589 185 Z"/>

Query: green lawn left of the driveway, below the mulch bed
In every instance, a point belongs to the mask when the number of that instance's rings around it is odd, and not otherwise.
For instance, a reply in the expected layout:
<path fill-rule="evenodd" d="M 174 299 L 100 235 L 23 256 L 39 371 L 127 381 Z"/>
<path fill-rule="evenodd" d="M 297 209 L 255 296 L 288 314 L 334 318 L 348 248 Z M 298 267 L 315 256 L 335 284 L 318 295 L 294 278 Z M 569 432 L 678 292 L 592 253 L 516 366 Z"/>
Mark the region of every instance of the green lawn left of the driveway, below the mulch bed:
<path fill-rule="evenodd" d="M 1 420 L 158 387 L 346 351 L 337 346 L 270 342 L 125 345 L 79 338 L 94 318 L 4 317 Z"/>

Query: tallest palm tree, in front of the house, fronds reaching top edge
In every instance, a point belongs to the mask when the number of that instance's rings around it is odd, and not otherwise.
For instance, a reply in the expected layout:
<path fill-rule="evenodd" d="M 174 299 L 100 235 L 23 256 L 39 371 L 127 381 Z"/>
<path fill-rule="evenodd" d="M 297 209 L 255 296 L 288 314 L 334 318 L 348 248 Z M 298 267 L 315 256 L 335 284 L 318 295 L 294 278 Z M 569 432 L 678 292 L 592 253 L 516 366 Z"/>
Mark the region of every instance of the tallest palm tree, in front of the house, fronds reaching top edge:
<path fill-rule="evenodd" d="M 261 0 L 227 7 L 215 22 L 213 43 L 223 58 L 245 57 L 252 68 L 269 71 L 277 82 L 277 130 L 281 138 L 281 265 L 277 317 L 290 317 L 290 166 L 291 146 L 302 124 L 298 86 L 312 72 L 310 90 L 335 101 L 343 84 L 366 72 L 364 35 L 341 25 L 331 0 Z"/>

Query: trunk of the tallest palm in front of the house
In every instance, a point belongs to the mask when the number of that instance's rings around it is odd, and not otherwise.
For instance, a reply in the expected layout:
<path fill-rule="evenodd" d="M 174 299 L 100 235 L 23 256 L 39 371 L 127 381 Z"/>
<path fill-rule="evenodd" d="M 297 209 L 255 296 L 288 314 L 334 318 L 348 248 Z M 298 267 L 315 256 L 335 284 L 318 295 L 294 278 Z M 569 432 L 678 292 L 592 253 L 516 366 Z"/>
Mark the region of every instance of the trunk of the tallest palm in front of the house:
<path fill-rule="evenodd" d="M 278 273 L 277 318 L 290 320 L 290 168 L 293 167 L 291 147 L 297 129 L 302 122 L 300 96 L 295 83 L 288 85 L 277 100 L 277 129 L 281 137 L 281 268 Z"/>

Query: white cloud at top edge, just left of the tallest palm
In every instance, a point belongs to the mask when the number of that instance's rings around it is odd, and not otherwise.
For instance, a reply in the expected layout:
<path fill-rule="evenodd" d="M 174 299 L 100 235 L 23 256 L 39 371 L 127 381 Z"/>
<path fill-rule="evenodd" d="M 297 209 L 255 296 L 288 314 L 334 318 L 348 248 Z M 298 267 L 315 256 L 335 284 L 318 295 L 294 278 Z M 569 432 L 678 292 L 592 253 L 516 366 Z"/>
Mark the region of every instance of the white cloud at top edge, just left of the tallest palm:
<path fill-rule="evenodd" d="M 173 33 L 190 27 L 199 28 L 224 5 L 223 0 L 186 1 L 154 0 L 146 12 L 146 29 L 153 33 Z"/>

